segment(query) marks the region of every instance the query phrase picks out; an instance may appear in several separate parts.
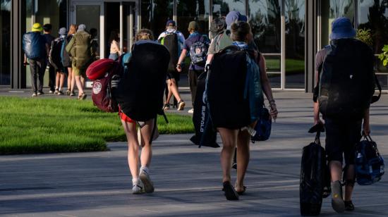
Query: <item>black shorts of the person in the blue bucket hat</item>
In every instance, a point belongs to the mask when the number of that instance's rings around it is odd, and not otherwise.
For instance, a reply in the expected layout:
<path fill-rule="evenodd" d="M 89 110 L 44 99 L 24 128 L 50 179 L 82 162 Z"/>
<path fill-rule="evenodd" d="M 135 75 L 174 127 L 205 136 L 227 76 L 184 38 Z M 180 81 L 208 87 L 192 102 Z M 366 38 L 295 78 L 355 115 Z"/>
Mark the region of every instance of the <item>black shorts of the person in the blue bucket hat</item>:
<path fill-rule="evenodd" d="M 328 161 L 340 161 L 345 158 L 346 165 L 354 164 L 356 144 L 361 139 L 362 120 L 336 120 L 325 118 L 326 155 Z"/>

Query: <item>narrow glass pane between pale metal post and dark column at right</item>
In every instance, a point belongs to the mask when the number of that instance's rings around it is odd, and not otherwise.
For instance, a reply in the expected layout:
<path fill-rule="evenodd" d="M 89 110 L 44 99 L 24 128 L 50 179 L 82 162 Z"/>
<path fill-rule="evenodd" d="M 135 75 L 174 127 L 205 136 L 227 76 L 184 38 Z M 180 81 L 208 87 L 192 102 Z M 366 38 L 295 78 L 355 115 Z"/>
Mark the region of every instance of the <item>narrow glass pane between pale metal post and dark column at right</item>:
<path fill-rule="evenodd" d="M 305 88 L 305 0 L 286 0 L 285 88 Z"/>

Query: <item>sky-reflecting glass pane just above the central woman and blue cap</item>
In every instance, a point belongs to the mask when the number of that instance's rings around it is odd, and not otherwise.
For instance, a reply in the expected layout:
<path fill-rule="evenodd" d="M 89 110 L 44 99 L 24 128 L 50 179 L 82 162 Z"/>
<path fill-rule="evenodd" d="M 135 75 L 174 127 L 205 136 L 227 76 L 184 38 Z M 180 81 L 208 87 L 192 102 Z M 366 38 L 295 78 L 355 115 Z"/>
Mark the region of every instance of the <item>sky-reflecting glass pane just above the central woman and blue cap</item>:
<path fill-rule="evenodd" d="M 229 11 L 238 11 L 245 14 L 245 0 L 213 0 L 212 2 L 214 18 L 226 16 Z"/>

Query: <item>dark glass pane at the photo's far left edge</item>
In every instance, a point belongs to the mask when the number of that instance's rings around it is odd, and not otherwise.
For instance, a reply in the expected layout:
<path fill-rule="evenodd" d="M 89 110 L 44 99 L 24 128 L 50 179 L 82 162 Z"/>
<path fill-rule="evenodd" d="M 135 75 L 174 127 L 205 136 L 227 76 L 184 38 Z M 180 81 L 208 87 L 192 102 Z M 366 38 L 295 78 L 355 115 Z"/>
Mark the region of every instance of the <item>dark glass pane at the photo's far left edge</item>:
<path fill-rule="evenodd" d="M 0 85 L 11 85 L 11 0 L 0 4 Z"/>

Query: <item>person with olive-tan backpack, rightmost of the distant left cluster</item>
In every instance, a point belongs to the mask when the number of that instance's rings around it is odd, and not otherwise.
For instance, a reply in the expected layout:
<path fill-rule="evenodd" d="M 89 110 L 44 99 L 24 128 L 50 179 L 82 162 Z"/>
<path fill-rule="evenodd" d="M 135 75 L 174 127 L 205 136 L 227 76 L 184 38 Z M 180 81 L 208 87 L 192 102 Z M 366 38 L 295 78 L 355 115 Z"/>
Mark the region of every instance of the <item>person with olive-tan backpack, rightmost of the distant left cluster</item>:
<path fill-rule="evenodd" d="M 92 56 L 92 39 L 86 32 L 86 26 L 80 24 L 77 32 L 66 46 L 66 51 L 71 54 L 73 73 L 75 75 L 75 84 L 78 88 L 78 99 L 85 99 L 87 95 L 84 92 L 86 68 L 94 58 Z"/>

